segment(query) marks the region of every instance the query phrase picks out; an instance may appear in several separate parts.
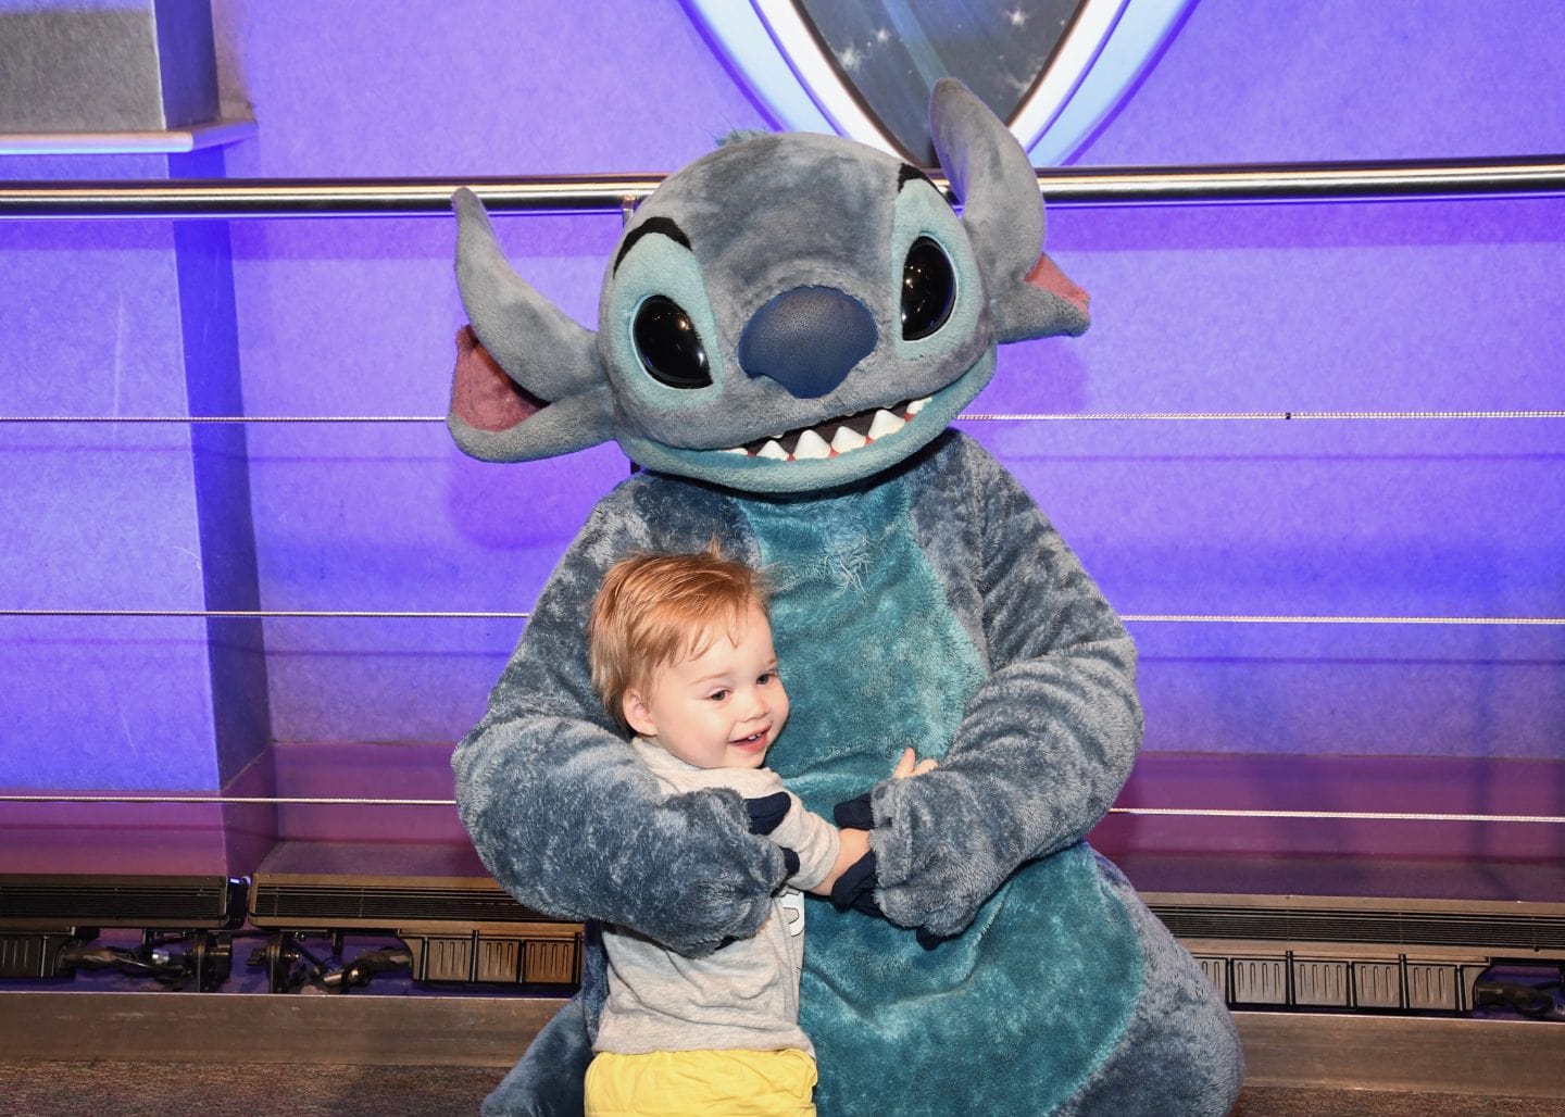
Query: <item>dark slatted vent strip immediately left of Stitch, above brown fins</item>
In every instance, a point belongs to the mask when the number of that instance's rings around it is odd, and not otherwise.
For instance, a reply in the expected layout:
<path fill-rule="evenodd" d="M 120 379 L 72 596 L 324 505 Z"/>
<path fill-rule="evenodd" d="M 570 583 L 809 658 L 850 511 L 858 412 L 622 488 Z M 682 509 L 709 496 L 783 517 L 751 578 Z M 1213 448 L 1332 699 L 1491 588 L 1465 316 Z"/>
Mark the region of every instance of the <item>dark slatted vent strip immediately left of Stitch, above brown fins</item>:
<path fill-rule="evenodd" d="M 499 889 L 257 884 L 252 907 L 255 915 L 268 920 L 369 920 L 387 926 L 415 921 L 552 921 Z"/>

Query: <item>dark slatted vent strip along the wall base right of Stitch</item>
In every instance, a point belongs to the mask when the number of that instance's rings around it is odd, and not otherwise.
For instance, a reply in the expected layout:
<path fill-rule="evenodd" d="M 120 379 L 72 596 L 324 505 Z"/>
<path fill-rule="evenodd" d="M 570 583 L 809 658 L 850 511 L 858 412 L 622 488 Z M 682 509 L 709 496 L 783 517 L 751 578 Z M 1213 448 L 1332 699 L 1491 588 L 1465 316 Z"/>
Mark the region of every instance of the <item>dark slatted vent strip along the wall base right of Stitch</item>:
<path fill-rule="evenodd" d="M 1152 910 L 1180 939 L 1565 950 L 1565 917 L 1559 915 L 1163 904 Z"/>

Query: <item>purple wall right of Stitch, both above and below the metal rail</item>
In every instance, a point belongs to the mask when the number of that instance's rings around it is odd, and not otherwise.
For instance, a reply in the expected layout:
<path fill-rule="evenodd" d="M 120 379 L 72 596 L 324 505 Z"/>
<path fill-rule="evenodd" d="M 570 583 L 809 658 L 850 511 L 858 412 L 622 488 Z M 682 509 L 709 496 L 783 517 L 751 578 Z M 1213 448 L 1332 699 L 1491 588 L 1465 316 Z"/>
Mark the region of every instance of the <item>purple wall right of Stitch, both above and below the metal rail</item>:
<path fill-rule="evenodd" d="M 1562 58 L 1551 3 L 1200 0 L 1074 161 L 1559 153 Z M 1041 394 L 981 404 L 1559 410 L 1562 228 L 1565 200 L 1061 211 L 1094 329 Z M 1556 422 L 984 436 L 1125 613 L 1565 613 Z M 1562 757 L 1559 629 L 1135 630 L 1149 748 Z"/>

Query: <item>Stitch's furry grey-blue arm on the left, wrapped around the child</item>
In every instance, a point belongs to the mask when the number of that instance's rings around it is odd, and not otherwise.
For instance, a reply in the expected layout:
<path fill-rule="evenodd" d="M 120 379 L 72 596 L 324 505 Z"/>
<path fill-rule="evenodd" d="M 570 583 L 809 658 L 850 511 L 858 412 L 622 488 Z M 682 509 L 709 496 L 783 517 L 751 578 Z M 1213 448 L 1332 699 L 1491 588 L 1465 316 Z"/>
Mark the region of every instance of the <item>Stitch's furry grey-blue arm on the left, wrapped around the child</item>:
<path fill-rule="evenodd" d="M 523 903 L 700 956 L 756 932 L 784 854 L 750 834 L 737 792 L 662 792 L 592 690 L 584 629 L 604 569 L 628 551 L 690 549 L 653 538 L 613 501 L 560 562 L 484 721 L 457 746 L 457 806 L 490 873 Z"/>

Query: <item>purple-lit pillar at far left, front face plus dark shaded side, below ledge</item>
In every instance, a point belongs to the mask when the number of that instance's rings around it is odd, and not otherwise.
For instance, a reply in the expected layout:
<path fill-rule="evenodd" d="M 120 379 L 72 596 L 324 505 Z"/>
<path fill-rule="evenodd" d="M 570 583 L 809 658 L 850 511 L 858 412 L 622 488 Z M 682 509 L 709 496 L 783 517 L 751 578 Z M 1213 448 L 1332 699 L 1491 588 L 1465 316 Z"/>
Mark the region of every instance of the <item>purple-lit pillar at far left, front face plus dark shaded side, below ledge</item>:
<path fill-rule="evenodd" d="M 172 163 L 172 166 L 171 166 Z M 166 161 L 17 160 L 23 175 L 221 177 Z M 0 415 L 232 415 L 239 405 L 224 225 L 0 225 Z M 254 609 L 238 427 L 0 426 L 8 609 Z M 254 621 L 6 618 L 0 785 L 218 790 L 268 742 Z"/>

